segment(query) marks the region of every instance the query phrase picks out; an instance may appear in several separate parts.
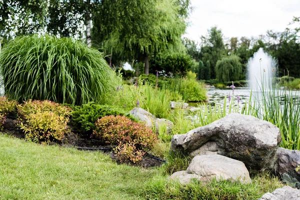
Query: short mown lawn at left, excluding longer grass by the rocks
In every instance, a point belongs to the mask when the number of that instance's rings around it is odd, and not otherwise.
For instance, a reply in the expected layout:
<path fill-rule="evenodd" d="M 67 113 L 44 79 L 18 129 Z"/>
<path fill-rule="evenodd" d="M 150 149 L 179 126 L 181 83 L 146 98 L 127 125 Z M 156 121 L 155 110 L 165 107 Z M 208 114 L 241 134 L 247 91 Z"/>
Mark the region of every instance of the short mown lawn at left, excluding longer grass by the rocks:
<path fill-rule="evenodd" d="M 116 164 L 102 152 L 0 135 L 0 199 L 141 199 L 155 173 Z"/>

